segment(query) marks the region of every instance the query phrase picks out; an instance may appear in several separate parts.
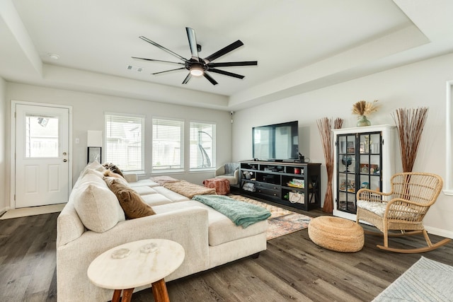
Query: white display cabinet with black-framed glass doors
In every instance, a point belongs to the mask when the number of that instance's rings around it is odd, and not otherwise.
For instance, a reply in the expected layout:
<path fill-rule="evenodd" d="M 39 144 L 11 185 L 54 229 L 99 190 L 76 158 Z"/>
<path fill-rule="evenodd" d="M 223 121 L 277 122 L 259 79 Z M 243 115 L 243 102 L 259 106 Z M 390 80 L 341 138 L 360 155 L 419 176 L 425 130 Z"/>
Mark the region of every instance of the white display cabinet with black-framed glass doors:
<path fill-rule="evenodd" d="M 394 126 L 333 129 L 333 215 L 355 220 L 361 187 L 389 192 L 394 174 Z"/>

